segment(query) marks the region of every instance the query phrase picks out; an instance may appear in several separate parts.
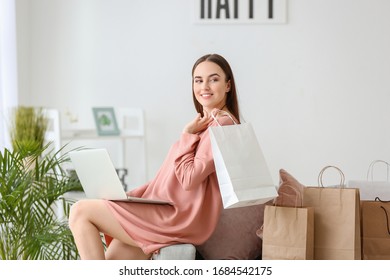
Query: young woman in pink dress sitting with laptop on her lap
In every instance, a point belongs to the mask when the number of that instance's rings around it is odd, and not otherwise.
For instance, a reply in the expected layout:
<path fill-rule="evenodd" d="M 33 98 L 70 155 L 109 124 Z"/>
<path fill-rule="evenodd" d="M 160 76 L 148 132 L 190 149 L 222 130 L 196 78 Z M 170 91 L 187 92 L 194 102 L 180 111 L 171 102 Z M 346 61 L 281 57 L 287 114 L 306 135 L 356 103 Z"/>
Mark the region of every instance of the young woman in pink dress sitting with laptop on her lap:
<path fill-rule="evenodd" d="M 128 192 L 173 205 L 100 199 L 76 202 L 69 226 L 81 259 L 149 259 L 162 247 L 202 244 L 213 233 L 222 200 L 207 128 L 233 124 L 219 110 L 240 121 L 233 72 L 222 56 L 208 54 L 195 62 L 192 95 L 198 114 L 185 125 L 155 178 Z M 106 251 L 100 233 L 113 237 Z"/>

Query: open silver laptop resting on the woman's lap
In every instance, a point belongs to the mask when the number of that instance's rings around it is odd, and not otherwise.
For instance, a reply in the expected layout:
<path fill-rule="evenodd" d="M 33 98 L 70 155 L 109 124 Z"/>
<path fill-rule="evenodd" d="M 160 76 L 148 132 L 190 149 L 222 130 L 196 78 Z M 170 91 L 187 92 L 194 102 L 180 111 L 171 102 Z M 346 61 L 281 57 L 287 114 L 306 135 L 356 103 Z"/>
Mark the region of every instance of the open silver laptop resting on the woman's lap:
<path fill-rule="evenodd" d="M 170 201 L 128 196 L 106 149 L 71 151 L 69 157 L 87 198 L 172 204 Z"/>

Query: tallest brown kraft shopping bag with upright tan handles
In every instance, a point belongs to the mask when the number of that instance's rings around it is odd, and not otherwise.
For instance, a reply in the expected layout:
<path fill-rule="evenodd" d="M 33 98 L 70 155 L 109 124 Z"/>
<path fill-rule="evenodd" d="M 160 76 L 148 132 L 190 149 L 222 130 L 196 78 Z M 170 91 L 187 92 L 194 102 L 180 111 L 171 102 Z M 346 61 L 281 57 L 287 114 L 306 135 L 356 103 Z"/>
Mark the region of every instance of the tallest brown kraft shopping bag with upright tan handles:
<path fill-rule="evenodd" d="M 341 176 L 338 187 L 324 187 L 325 170 L 335 168 Z M 326 166 L 318 176 L 317 187 L 306 187 L 303 206 L 314 208 L 314 259 L 361 259 L 359 189 L 344 187 L 344 174 Z"/>

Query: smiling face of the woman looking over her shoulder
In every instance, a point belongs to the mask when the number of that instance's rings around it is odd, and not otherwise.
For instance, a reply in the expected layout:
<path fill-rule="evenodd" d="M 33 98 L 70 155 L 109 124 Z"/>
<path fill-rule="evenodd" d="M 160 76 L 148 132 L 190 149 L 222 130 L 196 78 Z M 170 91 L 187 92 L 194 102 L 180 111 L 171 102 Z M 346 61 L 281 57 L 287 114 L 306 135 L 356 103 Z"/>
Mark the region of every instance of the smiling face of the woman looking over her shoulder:
<path fill-rule="evenodd" d="M 211 112 L 214 108 L 225 106 L 230 81 L 226 81 L 226 75 L 218 64 L 210 61 L 200 63 L 192 79 L 195 98 L 203 110 Z"/>

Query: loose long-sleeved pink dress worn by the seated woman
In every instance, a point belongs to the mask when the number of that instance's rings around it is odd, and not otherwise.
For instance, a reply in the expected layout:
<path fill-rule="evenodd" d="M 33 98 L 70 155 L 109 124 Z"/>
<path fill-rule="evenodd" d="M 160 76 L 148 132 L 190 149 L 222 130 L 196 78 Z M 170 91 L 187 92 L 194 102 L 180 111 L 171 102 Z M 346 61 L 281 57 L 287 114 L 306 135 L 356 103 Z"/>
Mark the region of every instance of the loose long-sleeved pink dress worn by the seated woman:
<path fill-rule="evenodd" d="M 227 116 L 219 117 L 218 122 L 233 124 Z M 215 121 L 210 123 L 215 125 Z M 183 133 L 156 177 L 131 195 L 174 202 L 172 206 L 106 201 L 145 254 L 170 244 L 205 242 L 222 210 L 208 130 Z"/>

